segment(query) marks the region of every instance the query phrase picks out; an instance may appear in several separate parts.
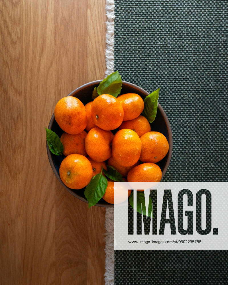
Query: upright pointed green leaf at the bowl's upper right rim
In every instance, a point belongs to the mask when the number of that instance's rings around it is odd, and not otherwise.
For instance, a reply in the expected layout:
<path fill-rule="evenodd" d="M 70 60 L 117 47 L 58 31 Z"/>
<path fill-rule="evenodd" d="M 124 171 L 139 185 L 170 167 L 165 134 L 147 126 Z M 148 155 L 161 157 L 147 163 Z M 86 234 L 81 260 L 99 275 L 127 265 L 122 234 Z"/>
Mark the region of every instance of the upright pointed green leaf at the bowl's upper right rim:
<path fill-rule="evenodd" d="M 143 116 L 146 117 L 150 123 L 154 121 L 157 114 L 159 90 L 160 88 L 150 93 L 144 99 Z"/>

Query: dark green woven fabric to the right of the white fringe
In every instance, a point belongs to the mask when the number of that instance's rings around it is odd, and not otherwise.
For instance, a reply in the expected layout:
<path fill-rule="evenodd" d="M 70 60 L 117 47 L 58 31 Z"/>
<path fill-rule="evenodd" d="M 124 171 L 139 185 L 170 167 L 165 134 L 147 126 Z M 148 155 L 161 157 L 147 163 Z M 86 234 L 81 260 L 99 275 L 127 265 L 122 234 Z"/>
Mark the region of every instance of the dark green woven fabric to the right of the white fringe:
<path fill-rule="evenodd" d="M 164 181 L 227 181 L 227 10 L 221 0 L 115 0 L 115 70 L 173 133 Z M 227 284 L 225 251 L 116 251 L 115 284 Z"/>

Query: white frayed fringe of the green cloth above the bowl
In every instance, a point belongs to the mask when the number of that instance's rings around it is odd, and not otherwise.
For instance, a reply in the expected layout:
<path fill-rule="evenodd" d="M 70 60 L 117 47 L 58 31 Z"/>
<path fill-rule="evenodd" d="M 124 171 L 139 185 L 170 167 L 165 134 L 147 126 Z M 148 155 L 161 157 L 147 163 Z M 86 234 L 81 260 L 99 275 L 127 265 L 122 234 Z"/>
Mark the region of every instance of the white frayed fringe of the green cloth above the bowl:
<path fill-rule="evenodd" d="M 107 33 L 106 33 L 106 50 L 105 61 L 106 71 L 105 76 L 114 72 L 114 19 L 115 19 L 115 3 L 114 0 L 106 0 L 106 16 L 107 16 Z"/>

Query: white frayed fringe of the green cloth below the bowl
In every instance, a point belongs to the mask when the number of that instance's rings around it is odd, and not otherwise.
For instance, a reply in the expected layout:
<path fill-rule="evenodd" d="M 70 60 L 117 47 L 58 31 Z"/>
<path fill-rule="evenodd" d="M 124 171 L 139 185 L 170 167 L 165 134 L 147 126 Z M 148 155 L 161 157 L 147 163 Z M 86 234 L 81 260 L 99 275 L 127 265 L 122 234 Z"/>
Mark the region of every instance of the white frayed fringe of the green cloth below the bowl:
<path fill-rule="evenodd" d="M 105 285 L 114 285 L 114 208 L 106 208 L 105 230 Z"/>

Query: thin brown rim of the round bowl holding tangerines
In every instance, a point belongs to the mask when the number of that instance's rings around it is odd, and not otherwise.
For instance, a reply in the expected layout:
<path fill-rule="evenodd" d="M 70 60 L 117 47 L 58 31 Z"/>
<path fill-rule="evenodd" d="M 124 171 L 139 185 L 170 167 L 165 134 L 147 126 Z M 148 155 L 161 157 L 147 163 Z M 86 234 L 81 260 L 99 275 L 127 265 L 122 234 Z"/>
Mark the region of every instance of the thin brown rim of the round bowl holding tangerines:
<path fill-rule="evenodd" d="M 72 92 L 70 92 L 67 96 L 73 96 L 75 95 L 78 91 L 81 91 L 82 89 L 84 89 L 85 87 L 89 87 L 89 86 L 92 86 L 92 85 L 96 85 L 96 84 L 99 84 L 102 80 L 95 80 L 95 81 L 91 81 L 91 82 L 88 82 L 76 89 L 74 89 Z M 144 93 L 145 95 L 149 94 L 146 90 L 144 90 L 143 88 L 133 84 L 133 83 L 130 83 L 130 82 L 127 82 L 127 81 L 122 81 L 124 84 L 127 84 L 128 86 L 130 87 L 134 87 L 134 88 L 137 88 L 139 91 L 141 91 L 142 93 Z M 146 95 L 146 96 L 147 96 Z M 66 96 L 66 97 L 67 97 Z M 169 152 L 168 152 L 168 157 L 167 157 L 167 160 L 166 160 L 166 164 L 165 164 L 165 167 L 162 171 L 162 178 L 164 177 L 164 175 L 166 174 L 166 171 L 168 169 L 168 166 L 170 164 L 170 160 L 171 160 L 171 156 L 172 156 L 172 150 L 173 150 L 173 137 L 172 137 L 172 129 L 171 129 L 171 126 L 170 126 L 170 122 L 168 120 L 168 117 L 165 113 L 165 111 L 163 110 L 162 106 L 158 103 L 158 109 L 159 111 L 161 112 L 162 116 L 164 117 L 165 119 L 165 123 L 166 123 L 166 126 L 167 126 L 167 130 L 168 130 L 168 136 L 169 136 Z M 48 124 L 48 129 L 51 129 L 52 125 L 53 125 L 53 122 L 54 122 L 54 119 L 55 119 L 55 116 L 54 116 L 54 113 L 50 119 L 50 122 Z M 79 200 L 83 201 L 83 202 L 86 202 L 88 203 L 88 201 L 84 198 L 84 197 L 81 197 L 79 196 L 78 194 L 76 194 L 72 189 L 70 189 L 69 187 L 67 187 L 63 182 L 62 180 L 60 179 L 60 176 L 54 166 L 54 162 L 52 160 L 52 156 L 51 156 L 51 152 L 49 150 L 49 147 L 48 147 L 48 144 L 46 142 L 46 148 L 47 148 L 47 154 L 48 154 L 48 160 L 50 162 L 50 165 L 51 165 L 51 168 L 56 176 L 56 178 L 58 179 L 58 181 L 62 184 L 62 186 L 68 191 L 70 192 L 74 197 L 78 198 Z M 105 203 L 97 203 L 95 204 L 95 206 L 98 206 L 98 207 L 105 207 L 105 208 L 112 208 L 114 207 L 114 204 L 105 204 Z"/>

